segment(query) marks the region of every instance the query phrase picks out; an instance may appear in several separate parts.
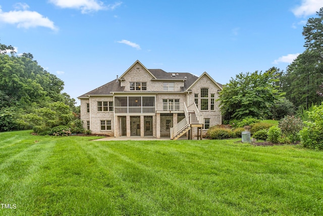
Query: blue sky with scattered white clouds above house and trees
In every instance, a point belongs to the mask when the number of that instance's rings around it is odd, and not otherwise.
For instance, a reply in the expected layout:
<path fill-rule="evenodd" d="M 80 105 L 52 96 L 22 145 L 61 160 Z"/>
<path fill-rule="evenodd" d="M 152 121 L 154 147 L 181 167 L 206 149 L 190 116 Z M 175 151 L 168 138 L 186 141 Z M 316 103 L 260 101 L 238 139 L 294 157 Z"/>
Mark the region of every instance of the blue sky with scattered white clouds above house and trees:
<path fill-rule="evenodd" d="M 206 71 L 225 84 L 240 72 L 286 70 L 321 7 L 323 0 L 0 0 L 0 43 L 33 54 L 75 99 L 136 60 L 167 72 Z"/>

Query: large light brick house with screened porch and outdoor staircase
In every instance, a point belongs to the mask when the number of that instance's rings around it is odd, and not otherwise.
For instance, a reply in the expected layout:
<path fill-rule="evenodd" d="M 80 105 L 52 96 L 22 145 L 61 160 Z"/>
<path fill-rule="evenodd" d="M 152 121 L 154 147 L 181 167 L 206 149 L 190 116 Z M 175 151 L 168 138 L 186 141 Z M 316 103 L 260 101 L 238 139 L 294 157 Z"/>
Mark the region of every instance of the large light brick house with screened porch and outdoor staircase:
<path fill-rule="evenodd" d="M 222 85 L 206 72 L 169 73 L 138 60 L 119 78 L 80 97 L 84 128 L 94 134 L 177 139 L 221 124 Z"/>

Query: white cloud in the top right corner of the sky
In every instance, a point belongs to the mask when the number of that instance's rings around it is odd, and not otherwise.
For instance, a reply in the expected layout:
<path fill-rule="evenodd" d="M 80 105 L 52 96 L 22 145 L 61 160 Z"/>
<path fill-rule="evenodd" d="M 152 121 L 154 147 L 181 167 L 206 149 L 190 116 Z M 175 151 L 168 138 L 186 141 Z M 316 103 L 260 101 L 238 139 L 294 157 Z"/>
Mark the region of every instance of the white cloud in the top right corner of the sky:
<path fill-rule="evenodd" d="M 316 14 L 321 7 L 323 7 L 322 0 L 302 0 L 302 4 L 295 7 L 292 12 L 296 17 L 306 17 Z"/>

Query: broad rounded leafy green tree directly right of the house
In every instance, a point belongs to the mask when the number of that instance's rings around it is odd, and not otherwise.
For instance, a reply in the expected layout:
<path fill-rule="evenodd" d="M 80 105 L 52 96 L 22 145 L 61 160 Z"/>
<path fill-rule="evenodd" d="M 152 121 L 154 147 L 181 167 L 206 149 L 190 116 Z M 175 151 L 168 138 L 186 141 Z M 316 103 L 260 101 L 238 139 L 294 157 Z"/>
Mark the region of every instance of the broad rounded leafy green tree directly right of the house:
<path fill-rule="evenodd" d="M 277 71 L 271 68 L 264 73 L 255 71 L 231 77 L 218 99 L 224 120 L 270 116 L 270 108 L 284 95 L 275 85 L 279 81 Z"/>

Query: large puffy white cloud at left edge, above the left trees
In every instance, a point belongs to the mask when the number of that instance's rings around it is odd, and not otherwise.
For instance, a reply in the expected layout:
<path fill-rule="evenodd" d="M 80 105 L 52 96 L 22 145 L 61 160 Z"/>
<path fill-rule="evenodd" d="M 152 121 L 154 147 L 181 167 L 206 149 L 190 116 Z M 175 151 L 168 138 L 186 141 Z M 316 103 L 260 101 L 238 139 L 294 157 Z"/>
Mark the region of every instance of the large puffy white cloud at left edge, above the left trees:
<path fill-rule="evenodd" d="M 20 5 L 24 8 L 28 8 L 26 4 Z M 0 22 L 17 25 L 18 28 L 30 28 L 42 26 L 57 30 L 54 23 L 47 17 L 35 12 L 26 10 L 15 10 L 9 12 L 3 12 L 0 6 Z"/>

